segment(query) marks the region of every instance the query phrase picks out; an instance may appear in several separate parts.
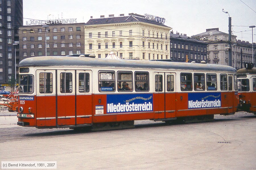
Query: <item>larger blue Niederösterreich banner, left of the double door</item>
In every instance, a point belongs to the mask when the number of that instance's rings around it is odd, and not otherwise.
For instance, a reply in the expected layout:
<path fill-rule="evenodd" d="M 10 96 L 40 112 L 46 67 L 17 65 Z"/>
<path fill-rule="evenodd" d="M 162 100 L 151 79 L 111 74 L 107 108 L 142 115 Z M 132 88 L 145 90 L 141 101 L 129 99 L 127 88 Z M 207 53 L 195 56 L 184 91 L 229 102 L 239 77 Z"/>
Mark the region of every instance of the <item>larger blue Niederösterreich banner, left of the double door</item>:
<path fill-rule="evenodd" d="M 109 94 L 107 113 L 153 111 L 153 94 Z"/>

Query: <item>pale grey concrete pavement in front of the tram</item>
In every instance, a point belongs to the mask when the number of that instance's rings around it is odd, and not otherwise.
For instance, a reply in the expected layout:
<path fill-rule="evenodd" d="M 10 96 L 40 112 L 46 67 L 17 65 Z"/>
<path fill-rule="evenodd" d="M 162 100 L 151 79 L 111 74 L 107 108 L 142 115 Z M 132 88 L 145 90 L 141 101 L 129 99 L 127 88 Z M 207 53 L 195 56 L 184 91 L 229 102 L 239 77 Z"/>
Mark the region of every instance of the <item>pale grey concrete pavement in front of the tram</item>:
<path fill-rule="evenodd" d="M 23 137 L 0 142 L 0 161 L 57 161 L 57 169 L 256 169 L 253 114 L 193 124 L 142 120 L 134 129 L 79 133 L 17 127 L 14 121 L 6 116 L 10 131 Z"/>

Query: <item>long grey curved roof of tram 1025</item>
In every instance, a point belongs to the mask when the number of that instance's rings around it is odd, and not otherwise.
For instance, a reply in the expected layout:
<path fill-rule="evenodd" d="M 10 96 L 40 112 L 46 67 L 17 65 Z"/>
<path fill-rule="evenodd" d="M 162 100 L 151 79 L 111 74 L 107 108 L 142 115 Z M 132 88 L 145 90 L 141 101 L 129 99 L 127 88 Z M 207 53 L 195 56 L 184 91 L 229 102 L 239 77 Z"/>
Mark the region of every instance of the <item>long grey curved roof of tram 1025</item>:
<path fill-rule="evenodd" d="M 92 66 L 92 67 L 131 67 L 148 69 L 179 69 L 179 70 L 210 70 L 210 71 L 230 71 L 236 69 L 226 65 L 201 64 L 201 63 L 180 63 L 166 61 L 146 61 L 128 59 L 105 59 L 87 57 L 67 57 L 67 56 L 40 56 L 26 58 L 20 61 L 19 67 L 30 66 Z"/>

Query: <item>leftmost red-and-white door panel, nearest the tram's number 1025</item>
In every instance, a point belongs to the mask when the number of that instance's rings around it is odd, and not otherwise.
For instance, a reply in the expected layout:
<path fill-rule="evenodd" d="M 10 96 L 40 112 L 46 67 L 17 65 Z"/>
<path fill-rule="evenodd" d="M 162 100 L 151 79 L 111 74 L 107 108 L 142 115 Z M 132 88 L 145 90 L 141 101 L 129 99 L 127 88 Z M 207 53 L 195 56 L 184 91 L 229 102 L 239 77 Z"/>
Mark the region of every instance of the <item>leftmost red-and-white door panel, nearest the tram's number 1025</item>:
<path fill-rule="evenodd" d="M 36 126 L 56 126 L 55 70 L 36 70 Z"/>

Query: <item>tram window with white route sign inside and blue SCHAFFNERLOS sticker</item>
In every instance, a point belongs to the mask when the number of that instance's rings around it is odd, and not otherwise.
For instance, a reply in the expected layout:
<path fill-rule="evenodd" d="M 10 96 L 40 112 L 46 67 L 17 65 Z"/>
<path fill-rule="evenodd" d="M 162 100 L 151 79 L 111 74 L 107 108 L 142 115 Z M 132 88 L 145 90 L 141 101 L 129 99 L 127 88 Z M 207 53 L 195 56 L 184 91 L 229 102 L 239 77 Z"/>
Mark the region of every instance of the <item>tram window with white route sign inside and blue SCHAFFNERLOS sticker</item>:
<path fill-rule="evenodd" d="M 104 77 L 103 75 L 101 74 L 106 74 Z M 107 76 L 107 74 L 111 74 L 111 79 L 110 78 L 110 75 Z M 103 78 L 103 79 L 102 79 Z M 103 86 L 103 83 L 104 83 L 104 86 Z M 107 83 L 109 85 L 107 85 Z M 113 84 L 113 85 L 112 85 Z M 106 89 L 102 89 L 102 87 L 105 87 L 106 86 Z M 114 86 L 114 87 L 110 87 L 110 86 Z M 110 90 L 112 88 L 112 90 Z M 99 92 L 115 92 L 115 71 L 109 71 L 109 70 L 100 70 L 98 72 L 98 90 Z"/>

